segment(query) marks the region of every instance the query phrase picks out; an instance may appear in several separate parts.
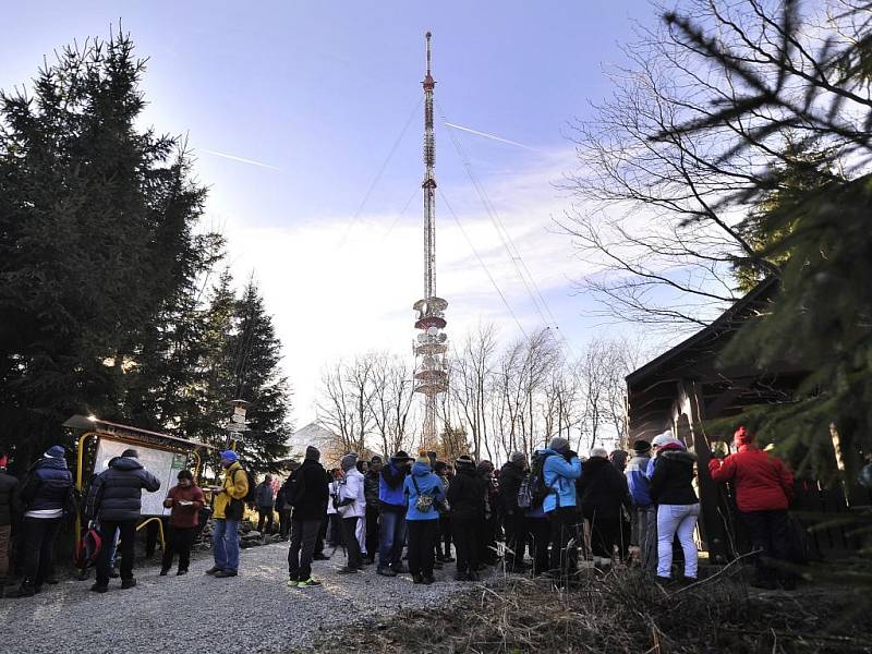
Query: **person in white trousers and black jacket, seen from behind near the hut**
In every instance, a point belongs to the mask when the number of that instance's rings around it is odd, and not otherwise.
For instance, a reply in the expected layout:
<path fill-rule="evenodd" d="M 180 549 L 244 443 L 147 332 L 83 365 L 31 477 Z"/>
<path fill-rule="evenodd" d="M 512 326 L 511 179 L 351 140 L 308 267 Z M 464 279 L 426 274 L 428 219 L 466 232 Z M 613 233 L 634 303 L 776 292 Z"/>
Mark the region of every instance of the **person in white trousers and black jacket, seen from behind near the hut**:
<path fill-rule="evenodd" d="M 685 552 L 685 581 L 697 579 L 699 556 L 693 530 L 700 516 L 700 500 L 693 491 L 697 455 L 689 452 L 679 440 L 664 444 L 651 477 L 651 498 L 657 505 L 657 578 L 670 581 L 673 573 L 673 540 Z"/>

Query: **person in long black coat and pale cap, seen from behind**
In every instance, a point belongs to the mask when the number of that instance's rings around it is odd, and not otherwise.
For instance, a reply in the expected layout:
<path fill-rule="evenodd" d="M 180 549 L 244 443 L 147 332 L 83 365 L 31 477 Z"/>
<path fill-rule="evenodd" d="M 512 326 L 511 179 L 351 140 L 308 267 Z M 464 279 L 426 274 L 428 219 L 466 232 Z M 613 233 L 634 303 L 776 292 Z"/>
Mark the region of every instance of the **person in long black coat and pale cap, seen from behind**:
<path fill-rule="evenodd" d="M 611 464 L 608 452 L 601 447 L 591 450 L 581 471 L 576 492 L 581 498 L 581 512 L 591 525 L 594 566 L 609 566 L 615 545 L 622 549 L 619 541 L 623 533 L 623 509 L 629 511 L 632 506 L 627 477 Z"/>

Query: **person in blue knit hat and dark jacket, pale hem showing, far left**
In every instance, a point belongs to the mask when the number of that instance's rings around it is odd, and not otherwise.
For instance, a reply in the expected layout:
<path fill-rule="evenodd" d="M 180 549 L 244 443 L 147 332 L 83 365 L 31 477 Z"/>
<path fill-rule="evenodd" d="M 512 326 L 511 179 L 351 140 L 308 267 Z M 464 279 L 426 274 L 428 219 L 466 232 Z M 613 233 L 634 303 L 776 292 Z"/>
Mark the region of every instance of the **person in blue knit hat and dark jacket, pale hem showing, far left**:
<path fill-rule="evenodd" d="M 31 597 L 40 592 L 52 569 L 55 540 L 64 512 L 70 511 L 73 492 L 73 475 L 66 468 L 64 455 L 60 445 L 50 447 L 31 467 L 22 486 L 24 580 L 19 590 L 7 597 Z"/>

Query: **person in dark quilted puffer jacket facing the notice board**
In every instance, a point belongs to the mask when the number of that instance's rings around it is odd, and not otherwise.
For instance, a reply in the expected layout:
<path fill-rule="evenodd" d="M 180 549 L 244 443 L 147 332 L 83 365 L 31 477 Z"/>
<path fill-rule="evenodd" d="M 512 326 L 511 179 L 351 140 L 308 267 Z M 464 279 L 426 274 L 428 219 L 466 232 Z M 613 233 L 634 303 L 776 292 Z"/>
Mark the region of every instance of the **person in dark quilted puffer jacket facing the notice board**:
<path fill-rule="evenodd" d="M 143 468 L 135 449 L 126 449 L 109 462 L 109 468 L 94 477 L 85 505 L 85 516 L 100 524 L 100 538 L 111 543 L 116 530 L 121 537 L 121 588 L 136 585 L 133 578 L 133 543 L 136 522 L 142 514 L 143 489 L 156 493 L 160 481 Z M 97 582 L 90 588 L 105 593 L 109 588 L 110 548 L 104 547 L 97 560 Z"/>

